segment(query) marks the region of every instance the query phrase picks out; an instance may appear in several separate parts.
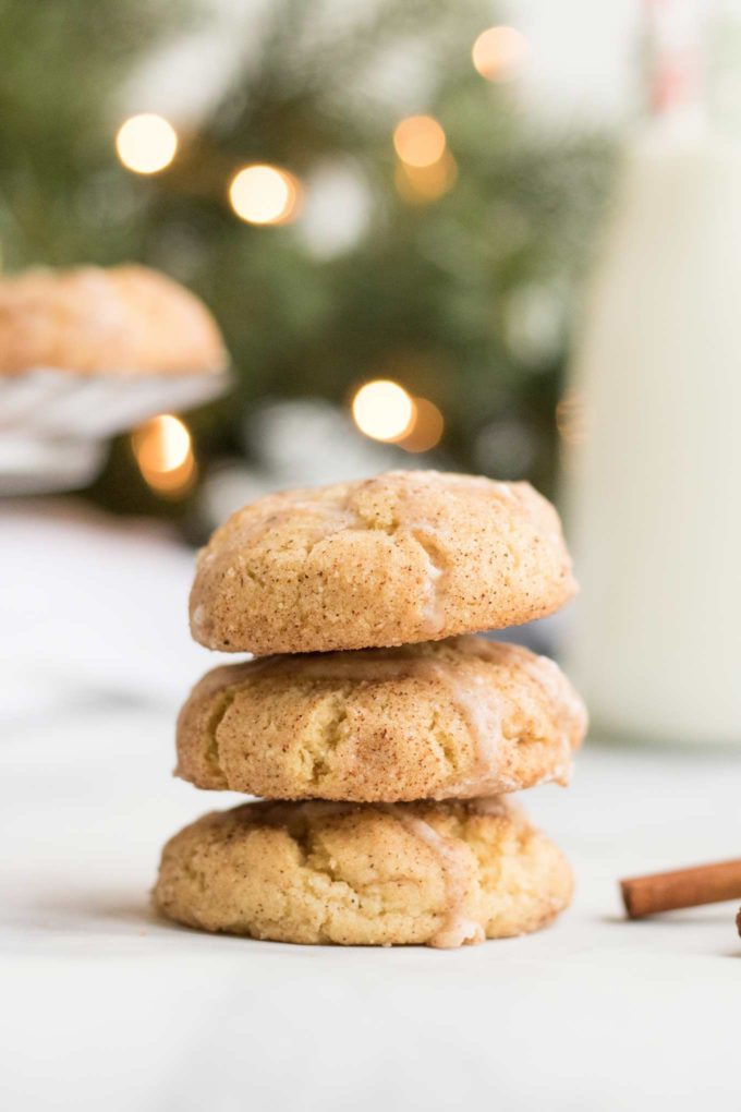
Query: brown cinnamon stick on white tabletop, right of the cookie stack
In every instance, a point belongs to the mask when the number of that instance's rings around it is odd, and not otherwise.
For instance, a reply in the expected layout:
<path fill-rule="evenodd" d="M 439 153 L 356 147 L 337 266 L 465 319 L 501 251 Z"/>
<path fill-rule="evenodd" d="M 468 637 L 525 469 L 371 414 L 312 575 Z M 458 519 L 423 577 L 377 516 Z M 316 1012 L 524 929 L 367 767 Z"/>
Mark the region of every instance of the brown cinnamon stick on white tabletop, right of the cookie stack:
<path fill-rule="evenodd" d="M 675 907 L 741 900 L 741 858 L 650 876 L 632 876 L 621 881 L 620 888 L 630 919 L 642 919 Z M 741 923 L 739 926 L 741 930 Z"/>

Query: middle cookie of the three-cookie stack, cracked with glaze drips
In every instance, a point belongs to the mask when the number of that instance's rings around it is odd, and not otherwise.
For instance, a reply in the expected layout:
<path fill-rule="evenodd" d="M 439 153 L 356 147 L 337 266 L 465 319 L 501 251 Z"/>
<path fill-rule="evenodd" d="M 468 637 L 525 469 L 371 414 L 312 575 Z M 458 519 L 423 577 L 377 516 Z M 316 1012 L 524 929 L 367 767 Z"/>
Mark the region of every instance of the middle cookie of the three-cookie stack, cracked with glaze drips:
<path fill-rule="evenodd" d="M 216 668 L 178 719 L 178 768 L 274 800 L 470 798 L 569 780 L 587 726 L 558 666 L 462 636 Z"/>

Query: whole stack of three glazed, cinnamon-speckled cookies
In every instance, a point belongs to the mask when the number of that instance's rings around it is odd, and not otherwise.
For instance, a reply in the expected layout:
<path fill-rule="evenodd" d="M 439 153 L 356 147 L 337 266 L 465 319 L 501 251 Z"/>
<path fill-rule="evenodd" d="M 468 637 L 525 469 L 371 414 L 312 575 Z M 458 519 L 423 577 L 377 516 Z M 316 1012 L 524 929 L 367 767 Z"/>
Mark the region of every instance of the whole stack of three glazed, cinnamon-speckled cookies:
<path fill-rule="evenodd" d="M 508 796 L 568 782 L 584 707 L 551 661 L 473 634 L 574 590 L 555 510 L 525 483 L 400 471 L 234 514 L 199 556 L 191 628 L 256 658 L 197 684 L 177 773 L 263 800 L 168 843 L 159 910 L 346 945 L 550 922 L 569 865 Z"/>

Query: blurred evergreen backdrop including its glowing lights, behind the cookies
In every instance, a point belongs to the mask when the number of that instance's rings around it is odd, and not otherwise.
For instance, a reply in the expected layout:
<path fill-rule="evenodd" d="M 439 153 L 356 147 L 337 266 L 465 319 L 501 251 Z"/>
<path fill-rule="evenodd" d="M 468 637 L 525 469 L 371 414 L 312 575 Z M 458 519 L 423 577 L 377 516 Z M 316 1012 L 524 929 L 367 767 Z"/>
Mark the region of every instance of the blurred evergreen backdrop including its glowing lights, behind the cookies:
<path fill-rule="evenodd" d="M 120 437 L 84 498 L 201 539 L 262 489 L 389 466 L 552 495 L 643 96 L 640 6 L 607 9 L 2 0 L 3 268 L 160 268 L 233 360 L 229 397 Z"/>

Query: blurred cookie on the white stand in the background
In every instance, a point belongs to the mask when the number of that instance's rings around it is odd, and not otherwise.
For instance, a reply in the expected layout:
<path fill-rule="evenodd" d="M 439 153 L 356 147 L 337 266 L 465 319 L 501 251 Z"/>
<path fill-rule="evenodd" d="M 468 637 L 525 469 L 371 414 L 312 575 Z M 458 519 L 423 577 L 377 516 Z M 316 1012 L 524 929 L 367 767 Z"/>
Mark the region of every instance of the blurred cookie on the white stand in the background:
<path fill-rule="evenodd" d="M 202 301 L 147 267 L 27 270 L 0 279 L 0 374 L 223 370 Z"/>

